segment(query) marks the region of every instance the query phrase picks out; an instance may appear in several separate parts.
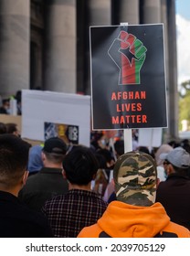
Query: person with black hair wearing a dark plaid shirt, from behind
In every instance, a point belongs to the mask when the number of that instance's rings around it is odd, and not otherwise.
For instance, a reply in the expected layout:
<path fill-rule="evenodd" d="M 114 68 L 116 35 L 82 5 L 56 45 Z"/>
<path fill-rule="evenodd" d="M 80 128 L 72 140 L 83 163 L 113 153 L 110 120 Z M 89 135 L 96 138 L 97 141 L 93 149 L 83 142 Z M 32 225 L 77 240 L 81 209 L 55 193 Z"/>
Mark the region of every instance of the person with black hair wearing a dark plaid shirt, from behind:
<path fill-rule="evenodd" d="M 95 178 L 99 165 L 90 148 L 73 147 L 62 165 L 63 176 L 69 182 L 69 192 L 48 200 L 42 212 L 55 237 L 75 238 L 80 229 L 100 218 L 107 203 L 91 191 L 91 180 Z"/>

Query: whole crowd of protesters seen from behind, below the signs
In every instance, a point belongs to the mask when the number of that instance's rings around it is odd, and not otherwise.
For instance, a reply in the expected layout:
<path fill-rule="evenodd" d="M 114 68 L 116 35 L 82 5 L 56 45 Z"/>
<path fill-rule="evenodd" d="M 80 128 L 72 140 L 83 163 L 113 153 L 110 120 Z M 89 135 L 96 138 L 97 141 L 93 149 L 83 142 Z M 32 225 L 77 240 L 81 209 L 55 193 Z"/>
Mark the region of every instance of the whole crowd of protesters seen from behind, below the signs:
<path fill-rule="evenodd" d="M 0 123 L 1 237 L 190 237 L 188 140 L 125 153 L 111 133 L 91 133 L 89 147 L 58 137 L 32 145 L 8 126 Z"/>

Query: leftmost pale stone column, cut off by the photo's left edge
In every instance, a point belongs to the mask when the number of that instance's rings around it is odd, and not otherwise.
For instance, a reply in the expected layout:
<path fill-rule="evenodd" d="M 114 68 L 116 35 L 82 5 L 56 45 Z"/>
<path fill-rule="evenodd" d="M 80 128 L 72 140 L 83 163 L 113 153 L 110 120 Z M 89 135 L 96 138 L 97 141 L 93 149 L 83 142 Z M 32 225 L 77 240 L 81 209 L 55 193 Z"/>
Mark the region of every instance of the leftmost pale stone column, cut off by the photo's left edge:
<path fill-rule="evenodd" d="M 0 1 L 0 94 L 29 88 L 29 0 Z"/>

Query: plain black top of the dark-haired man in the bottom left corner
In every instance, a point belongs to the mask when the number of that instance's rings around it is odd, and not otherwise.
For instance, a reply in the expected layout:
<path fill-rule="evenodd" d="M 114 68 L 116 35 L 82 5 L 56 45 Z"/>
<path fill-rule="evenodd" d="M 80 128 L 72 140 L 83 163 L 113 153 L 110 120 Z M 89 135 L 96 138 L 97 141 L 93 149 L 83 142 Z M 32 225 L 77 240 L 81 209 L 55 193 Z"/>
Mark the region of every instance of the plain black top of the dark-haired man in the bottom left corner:
<path fill-rule="evenodd" d="M 1 238 L 50 238 L 47 219 L 30 210 L 14 195 L 0 191 Z"/>

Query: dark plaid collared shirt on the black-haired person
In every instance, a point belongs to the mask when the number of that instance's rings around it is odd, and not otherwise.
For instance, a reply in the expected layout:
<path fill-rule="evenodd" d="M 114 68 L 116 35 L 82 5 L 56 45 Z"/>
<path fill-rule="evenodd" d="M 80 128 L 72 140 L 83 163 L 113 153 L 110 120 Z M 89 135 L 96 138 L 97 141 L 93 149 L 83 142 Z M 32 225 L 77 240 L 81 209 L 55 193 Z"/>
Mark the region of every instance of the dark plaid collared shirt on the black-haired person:
<path fill-rule="evenodd" d="M 107 208 L 96 193 L 71 189 L 66 195 L 48 200 L 42 208 L 55 237 L 74 238 L 84 227 L 97 222 Z"/>

